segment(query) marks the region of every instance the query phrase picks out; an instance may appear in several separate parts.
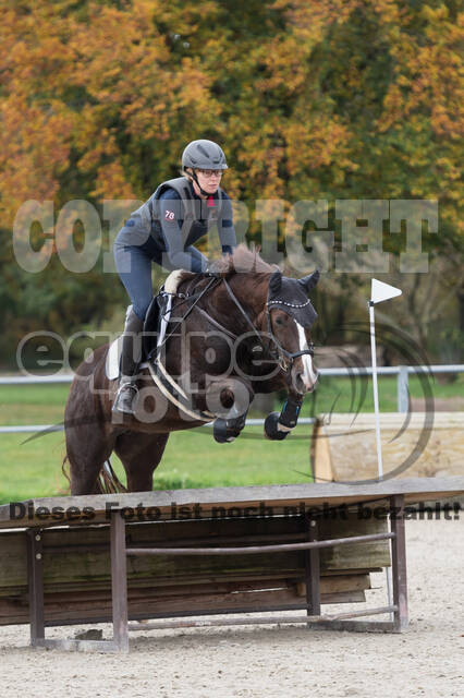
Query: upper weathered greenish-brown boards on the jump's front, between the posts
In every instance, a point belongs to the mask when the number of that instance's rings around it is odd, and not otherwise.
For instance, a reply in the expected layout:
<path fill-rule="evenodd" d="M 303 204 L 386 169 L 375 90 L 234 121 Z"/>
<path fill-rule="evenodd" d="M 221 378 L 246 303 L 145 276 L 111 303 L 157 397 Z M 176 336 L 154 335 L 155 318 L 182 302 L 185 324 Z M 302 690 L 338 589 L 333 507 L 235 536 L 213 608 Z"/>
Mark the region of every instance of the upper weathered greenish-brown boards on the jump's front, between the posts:
<path fill-rule="evenodd" d="M 322 519 L 320 539 L 341 534 L 362 535 L 367 532 L 386 531 L 384 520 L 358 519 L 355 513 L 347 520 Z M 196 521 L 127 525 L 127 543 L 142 545 L 161 543 L 176 545 L 176 537 L 190 541 L 194 546 L 198 539 L 208 539 L 211 544 L 221 542 L 221 535 L 232 543 L 236 534 L 243 538 L 248 531 L 248 540 L 254 535 L 272 543 L 274 535 L 282 532 L 301 532 L 297 518 L 254 519 L 229 521 Z M 109 529 L 94 527 L 87 529 L 48 529 L 44 531 L 44 575 L 46 592 L 65 590 L 66 587 L 80 589 L 108 587 L 110 585 Z M 0 534 L 0 597 L 22 593 L 27 586 L 25 565 L 24 532 Z M 52 553 L 47 551 L 52 547 Z M 75 549 L 75 550 L 74 550 Z M 386 541 L 363 543 L 362 545 L 340 545 L 325 549 L 321 553 L 321 571 L 370 569 L 390 564 L 389 546 Z M 180 583 L 181 580 L 194 581 L 205 578 L 221 579 L 228 577 L 257 576 L 303 576 L 304 553 L 286 552 L 279 554 L 262 553 L 254 556 L 236 555 L 234 558 L 203 556 L 156 556 L 130 557 L 127 561 L 129 583 L 144 583 L 152 580 L 154 586 Z"/>

